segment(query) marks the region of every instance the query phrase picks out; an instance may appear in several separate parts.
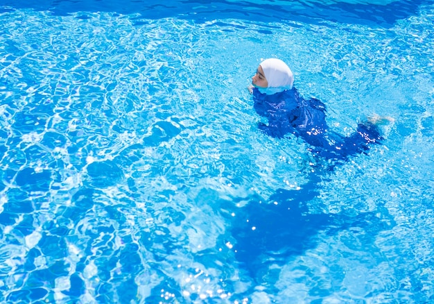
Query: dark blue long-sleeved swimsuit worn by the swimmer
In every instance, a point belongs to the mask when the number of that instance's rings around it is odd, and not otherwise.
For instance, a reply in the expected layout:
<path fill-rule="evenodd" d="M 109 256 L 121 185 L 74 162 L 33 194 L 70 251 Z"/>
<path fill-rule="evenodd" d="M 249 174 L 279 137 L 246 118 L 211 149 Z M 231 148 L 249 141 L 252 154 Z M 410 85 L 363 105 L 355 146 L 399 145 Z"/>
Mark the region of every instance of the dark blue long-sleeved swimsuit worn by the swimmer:
<path fill-rule="evenodd" d="M 263 132 L 277 138 L 286 134 L 302 137 L 312 146 L 310 150 L 323 158 L 344 160 L 367 151 L 371 144 L 383 139 L 378 128 L 369 122 L 358 124 L 356 132 L 349 137 L 330 131 L 324 103 L 304 99 L 295 87 L 272 95 L 262 94 L 254 87 L 253 101 L 257 113 L 268 119 L 268 125 L 259 124 Z"/>

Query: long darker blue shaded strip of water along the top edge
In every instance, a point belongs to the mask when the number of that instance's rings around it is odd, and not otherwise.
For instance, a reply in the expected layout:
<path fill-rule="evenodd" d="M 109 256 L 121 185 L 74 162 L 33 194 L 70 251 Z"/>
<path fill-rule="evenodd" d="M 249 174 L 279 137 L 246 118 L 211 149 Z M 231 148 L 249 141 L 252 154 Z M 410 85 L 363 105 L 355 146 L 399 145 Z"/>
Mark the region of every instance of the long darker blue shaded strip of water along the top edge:
<path fill-rule="evenodd" d="M 0 12 L 19 8 L 49 10 L 55 15 L 74 12 L 139 13 L 139 18 L 160 19 L 177 17 L 198 22 L 218 19 L 244 19 L 254 22 L 281 22 L 291 20 L 318 23 L 324 20 L 349 24 L 366 24 L 388 28 L 398 19 L 416 15 L 419 6 L 428 0 L 388 1 L 387 4 L 370 1 L 205 1 L 205 0 L 3 0 Z"/>

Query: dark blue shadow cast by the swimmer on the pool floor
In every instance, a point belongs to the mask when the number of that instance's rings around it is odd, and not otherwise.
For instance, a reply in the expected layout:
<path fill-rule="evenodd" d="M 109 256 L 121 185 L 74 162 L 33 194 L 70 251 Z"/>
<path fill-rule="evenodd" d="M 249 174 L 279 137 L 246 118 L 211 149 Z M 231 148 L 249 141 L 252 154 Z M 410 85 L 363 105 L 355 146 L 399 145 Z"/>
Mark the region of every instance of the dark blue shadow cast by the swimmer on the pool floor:
<path fill-rule="evenodd" d="M 321 242 L 320 233 L 333 235 L 358 227 L 374 236 L 390 229 L 393 220 L 387 210 L 356 216 L 309 212 L 306 203 L 319 195 L 320 181 L 320 175 L 311 174 L 299 190 L 278 189 L 268 202 L 254 199 L 238 210 L 232 222 L 233 249 L 252 278 L 258 278 L 258 272 L 270 264 L 285 264 L 290 257 L 315 248 Z"/>

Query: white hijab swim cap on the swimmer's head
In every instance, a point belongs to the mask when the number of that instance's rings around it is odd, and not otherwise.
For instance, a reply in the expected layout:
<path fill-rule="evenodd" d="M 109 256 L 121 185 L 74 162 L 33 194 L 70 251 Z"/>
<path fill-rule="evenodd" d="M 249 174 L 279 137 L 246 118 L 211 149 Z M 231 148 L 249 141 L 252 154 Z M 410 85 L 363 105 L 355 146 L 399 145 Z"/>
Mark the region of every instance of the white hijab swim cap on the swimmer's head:
<path fill-rule="evenodd" d="M 268 88 L 281 88 L 291 90 L 294 83 L 294 75 L 288 65 L 280 59 L 268 58 L 261 62 L 263 73 L 268 81 Z"/>

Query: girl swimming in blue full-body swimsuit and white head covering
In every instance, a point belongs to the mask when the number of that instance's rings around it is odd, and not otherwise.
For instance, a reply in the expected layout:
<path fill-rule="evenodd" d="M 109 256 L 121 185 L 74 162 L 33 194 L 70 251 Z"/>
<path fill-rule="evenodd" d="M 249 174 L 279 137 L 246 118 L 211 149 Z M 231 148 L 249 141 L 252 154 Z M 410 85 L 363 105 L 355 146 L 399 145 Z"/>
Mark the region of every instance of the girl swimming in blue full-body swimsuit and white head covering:
<path fill-rule="evenodd" d="M 268 119 L 268 125 L 259 124 L 266 134 L 278 138 L 286 134 L 302 137 L 311 144 L 315 155 L 338 160 L 363 153 L 383 139 L 376 126 L 379 119 L 358 124 L 356 132 L 349 137 L 329 130 L 324 103 L 304 99 L 293 82 L 293 72 L 277 58 L 263 60 L 252 77 L 249 90 L 253 94 L 254 109 Z"/>

